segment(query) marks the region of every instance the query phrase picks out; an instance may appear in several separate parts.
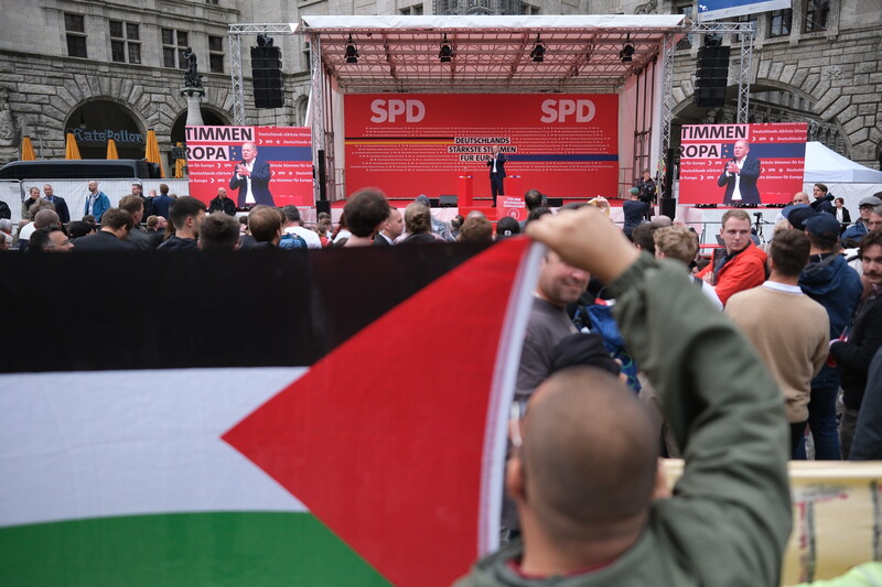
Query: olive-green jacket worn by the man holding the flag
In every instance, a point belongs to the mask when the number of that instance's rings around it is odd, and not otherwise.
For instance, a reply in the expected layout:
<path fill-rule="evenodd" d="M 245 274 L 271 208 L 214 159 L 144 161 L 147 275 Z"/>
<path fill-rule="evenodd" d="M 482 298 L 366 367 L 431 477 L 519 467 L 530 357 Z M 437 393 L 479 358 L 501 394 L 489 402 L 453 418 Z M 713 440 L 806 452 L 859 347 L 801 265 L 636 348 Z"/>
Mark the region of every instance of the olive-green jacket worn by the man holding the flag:
<path fill-rule="evenodd" d="M 674 496 L 653 503 L 643 536 L 602 569 L 524 579 L 506 565 L 520 555 L 515 543 L 480 561 L 458 587 L 777 586 L 792 522 L 781 391 L 681 267 L 644 254 L 610 292 L 684 447 Z"/>

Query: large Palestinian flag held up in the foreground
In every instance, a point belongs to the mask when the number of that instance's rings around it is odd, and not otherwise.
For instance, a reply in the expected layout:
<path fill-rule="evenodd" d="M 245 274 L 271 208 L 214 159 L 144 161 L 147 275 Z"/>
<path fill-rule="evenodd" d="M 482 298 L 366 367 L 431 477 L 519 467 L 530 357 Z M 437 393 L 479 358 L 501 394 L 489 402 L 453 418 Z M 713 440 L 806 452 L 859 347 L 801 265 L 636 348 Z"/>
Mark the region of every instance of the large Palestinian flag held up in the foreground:
<path fill-rule="evenodd" d="M 525 240 L 0 256 L 0 585 L 448 585 L 495 546 Z"/>

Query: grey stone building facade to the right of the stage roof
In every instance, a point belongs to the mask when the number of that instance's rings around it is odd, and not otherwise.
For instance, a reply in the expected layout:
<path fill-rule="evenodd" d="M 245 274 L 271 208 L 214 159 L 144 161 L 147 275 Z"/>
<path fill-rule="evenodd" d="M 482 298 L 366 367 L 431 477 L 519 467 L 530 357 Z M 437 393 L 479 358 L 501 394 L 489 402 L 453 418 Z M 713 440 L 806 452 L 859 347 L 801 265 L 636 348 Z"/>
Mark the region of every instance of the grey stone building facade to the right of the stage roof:
<path fill-rule="evenodd" d="M 816 14 L 816 4 L 826 12 Z M 689 2 L 670 2 L 667 11 L 693 13 Z M 878 2 L 793 0 L 788 11 L 754 14 L 750 20 L 756 37 L 749 121 L 807 122 L 809 140 L 880 169 L 882 12 Z M 684 48 L 675 58 L 675 126 L 733 121 L 738 40 L 727 40 L 733 44 L 727 106 L 710 109 L 693 105 L 696 52 L 701 40 L 690 41 L 692 46 L 681 43 Z M 673 137 L 678 135 L 675 130 Z"/>

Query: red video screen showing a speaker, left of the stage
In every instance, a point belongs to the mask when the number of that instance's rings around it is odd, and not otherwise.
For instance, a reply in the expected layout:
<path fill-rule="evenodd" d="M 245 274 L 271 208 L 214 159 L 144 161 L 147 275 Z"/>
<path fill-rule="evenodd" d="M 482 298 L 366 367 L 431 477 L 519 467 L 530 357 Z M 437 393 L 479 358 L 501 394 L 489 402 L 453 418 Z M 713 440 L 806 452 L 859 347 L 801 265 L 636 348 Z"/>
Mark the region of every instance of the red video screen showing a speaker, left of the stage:
<path fill-rule="evenodd" d="M 186 127 L 186 155 L 190 195 L 205 204 L 222 187 L 240 208 L 314 204 L 308 128 Z"/>

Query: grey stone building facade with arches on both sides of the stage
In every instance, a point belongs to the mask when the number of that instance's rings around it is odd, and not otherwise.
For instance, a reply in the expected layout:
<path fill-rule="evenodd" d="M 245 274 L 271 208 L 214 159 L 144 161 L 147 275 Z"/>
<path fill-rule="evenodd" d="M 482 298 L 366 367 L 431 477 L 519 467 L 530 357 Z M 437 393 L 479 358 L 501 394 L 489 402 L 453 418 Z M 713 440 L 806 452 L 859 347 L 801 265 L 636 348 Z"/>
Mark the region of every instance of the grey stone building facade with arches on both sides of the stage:
<path fill-rule="evenodd" d="M 793 9 L 752 15 L 757 29 L 751 72 L 751 121 L 809 123 L 820 140 L 864 165 L 880 166 L 882 144 L 882 12 L 878 0 L 793 0 Z M 100 157 L 108 135 L 120 156 L 143 156 L 153 129 L 169 152 L 183 138 L 186 101 L 181 52 L 198 57 L 207 124 L 233 119 L 229 23 L 295 22 L 309 14 L 695 13 L 693 0 L 36 0 L 17 3 L 0 23 L 0 162 L 19 156 L 29 134 L 37 156 L 64 155 L 65 132 L 86 157 Z M 257 8 L 259 12 L 257 12 Z M 824 11 L 822 24 L 819 14 Z M 746 17 L 743 19 L 747 19 Z M 807 24 L 810 23 L 810 24 Z M 692 35 L 698 36 L 698 35 Z M 309 95 L 309 50 L 299 35 L 275 37 L 282 48 L 283 108 L 252 107 L 248 46 L 243 37 L 247 120 L 303 124 Z M 699 39 L 681 43 L 675 58 L 675 126 L 734 119 L 738 52 L 723 108 L 692 104 Z M 729 39 L 728 43 L 738 44 Z M 111 134 L 108 134 L 108 131 Z M 674 137 L 678 132 L 675 129 Z M 675 139 L 676 144 L 676 139 Z"/>

